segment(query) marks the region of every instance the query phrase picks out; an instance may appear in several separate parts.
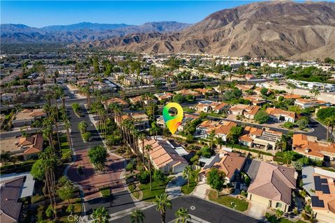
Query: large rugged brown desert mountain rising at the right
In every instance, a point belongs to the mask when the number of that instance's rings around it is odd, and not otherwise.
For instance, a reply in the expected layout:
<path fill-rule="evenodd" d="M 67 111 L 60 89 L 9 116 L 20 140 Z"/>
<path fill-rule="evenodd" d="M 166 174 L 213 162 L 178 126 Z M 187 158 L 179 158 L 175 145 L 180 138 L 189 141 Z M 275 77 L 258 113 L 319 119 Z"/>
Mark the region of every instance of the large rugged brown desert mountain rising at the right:
<path fill-rule="evenodd" d="M 138 32 L 73 46 L 323 59 L 335 57 L 334 36 L 334 2 L 269 1 L 218 11 L 180 32 Z"/>

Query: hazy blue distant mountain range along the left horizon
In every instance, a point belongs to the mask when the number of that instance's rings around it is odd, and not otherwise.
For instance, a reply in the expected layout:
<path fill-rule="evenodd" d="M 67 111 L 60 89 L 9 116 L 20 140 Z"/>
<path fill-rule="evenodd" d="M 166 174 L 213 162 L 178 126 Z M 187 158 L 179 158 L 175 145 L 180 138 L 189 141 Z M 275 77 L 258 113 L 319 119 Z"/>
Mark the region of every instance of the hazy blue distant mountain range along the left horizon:
<path fill-rule="evenodd" d="M 81 22 L 70 25 L 34 28 L 23 24 L 1 24 L 1 43 L 75 43 L 104 40 L 129 33 L 168 33 L 180 31 L 190 24 L 179 22 L 147 22 L 140 26 Z"/>

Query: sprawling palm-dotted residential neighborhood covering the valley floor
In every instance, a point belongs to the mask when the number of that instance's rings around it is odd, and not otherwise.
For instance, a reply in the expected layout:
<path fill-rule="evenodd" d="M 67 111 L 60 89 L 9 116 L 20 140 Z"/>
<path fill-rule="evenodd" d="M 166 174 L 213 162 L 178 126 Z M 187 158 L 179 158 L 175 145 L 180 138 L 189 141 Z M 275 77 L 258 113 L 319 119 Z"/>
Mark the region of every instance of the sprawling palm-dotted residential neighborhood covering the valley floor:
<path fill-rule="evenodd" d="M 1 223 L 335 222 L 334 56 L 93 43 L 1 49 Z"/>

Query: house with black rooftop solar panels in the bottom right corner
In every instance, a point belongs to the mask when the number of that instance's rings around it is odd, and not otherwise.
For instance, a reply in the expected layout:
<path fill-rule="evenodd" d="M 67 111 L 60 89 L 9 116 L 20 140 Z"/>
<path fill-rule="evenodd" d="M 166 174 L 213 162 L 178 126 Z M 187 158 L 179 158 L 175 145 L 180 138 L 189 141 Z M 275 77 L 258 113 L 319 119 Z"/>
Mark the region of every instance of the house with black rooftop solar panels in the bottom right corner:
<path fill-rule="evenodd" d="M 335 220 L 335 174 L 317 167 L 302 168 L 302 187 L 311 198 L 315 219 L 319 222 Z"/>

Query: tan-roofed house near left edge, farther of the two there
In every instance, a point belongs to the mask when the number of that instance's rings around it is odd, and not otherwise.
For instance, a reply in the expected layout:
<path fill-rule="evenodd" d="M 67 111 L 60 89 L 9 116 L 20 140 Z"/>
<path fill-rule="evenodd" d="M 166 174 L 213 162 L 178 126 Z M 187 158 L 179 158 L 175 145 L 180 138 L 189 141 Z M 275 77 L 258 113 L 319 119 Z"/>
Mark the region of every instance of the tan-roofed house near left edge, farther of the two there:
<path fill-rule="evenodd" d="M 12 124 L 14 127 L 30 126 L 34 121 L 45 116 L 43 109 L 24 109 L 22 112 L 15 114 Z"/>

